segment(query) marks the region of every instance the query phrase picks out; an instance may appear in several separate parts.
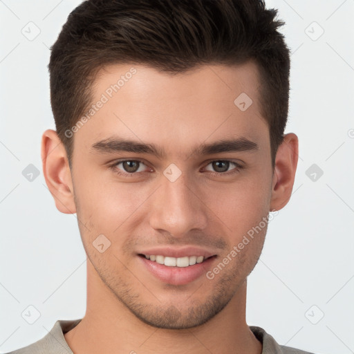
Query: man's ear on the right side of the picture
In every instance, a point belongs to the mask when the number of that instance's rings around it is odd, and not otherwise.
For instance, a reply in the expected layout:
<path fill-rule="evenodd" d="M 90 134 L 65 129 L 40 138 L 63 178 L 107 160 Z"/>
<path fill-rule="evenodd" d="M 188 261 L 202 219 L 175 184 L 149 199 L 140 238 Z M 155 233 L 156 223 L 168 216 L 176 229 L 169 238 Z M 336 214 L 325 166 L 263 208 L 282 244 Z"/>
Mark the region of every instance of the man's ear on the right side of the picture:
<path fill-rule="evenodd" d="M 275 157 L 270 211 L 280 210 L 288 203 L 294 185 L 298 158 L 299 139 L 294 133 L 288 133 L 279 145 Z"/>

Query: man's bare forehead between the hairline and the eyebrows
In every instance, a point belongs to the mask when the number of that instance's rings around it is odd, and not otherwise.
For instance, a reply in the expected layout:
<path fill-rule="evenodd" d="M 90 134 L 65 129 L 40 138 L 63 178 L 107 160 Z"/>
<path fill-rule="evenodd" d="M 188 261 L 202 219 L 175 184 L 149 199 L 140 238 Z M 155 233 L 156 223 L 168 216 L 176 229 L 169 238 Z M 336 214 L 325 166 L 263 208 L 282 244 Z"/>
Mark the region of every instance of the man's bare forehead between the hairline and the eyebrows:
<path fill-rule="evenodd" d="M 180 151 L 225 136 L 262 145 L 268 124 L 260 111 L 259 72 L 253 62 L 203 65 L 176 75 L 115 64 L 98 73 L 93 114 L 75 140 L 81 136 L 92 145 L 119 136 Z"/>

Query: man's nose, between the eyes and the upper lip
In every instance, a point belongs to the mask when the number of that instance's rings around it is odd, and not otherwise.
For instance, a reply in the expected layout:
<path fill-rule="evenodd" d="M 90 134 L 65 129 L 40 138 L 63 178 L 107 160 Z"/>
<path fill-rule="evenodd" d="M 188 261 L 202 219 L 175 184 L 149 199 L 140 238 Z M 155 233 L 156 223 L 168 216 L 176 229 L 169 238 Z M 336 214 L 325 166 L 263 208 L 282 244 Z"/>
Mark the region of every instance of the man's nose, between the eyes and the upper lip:
<path fill-rule="evenodd" d="M 162 176 L 162 185 L 153 194 L 150 226 L 159 232 L 169 232 L 181 238 L 192 230 L 204 230 L 207 226 L 207 207 L 196 183 L 182 174 L 171 182 Z"/>

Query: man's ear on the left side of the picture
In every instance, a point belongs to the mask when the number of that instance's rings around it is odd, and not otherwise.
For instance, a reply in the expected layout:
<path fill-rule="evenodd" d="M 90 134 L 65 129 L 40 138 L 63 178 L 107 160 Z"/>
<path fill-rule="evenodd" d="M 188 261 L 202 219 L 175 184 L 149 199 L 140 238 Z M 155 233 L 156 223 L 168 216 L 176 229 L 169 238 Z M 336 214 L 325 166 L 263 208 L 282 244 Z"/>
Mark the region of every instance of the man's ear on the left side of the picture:
<path fill-rule="evenodd" d="M 62 140 L 54 130 L 48 129 L 43 133 L 41 160 L 44 178 L 55 200 L 55 206 L 59 212 L 74 214 L 76 207 L 68 157 Z"/>

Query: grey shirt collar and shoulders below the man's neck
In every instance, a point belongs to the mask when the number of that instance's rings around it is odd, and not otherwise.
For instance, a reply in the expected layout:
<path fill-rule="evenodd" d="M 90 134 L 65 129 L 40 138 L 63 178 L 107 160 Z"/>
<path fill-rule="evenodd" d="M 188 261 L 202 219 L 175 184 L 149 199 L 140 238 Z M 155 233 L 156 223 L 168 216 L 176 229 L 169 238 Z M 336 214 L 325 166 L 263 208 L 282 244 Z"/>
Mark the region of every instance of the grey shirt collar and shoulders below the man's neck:
<path fill-rule="evenodd" d="M 71 348 L 66 343 L 64 333 L 73 329 L 81 320 L 74 319 L 68 321 L 59 319 L 45 337 L 29 346 L 7 354 L 73 354 Z M 261 327 L 250 326 L 250 330 L 252 330 L 259 342 L 263 344 L 261 354 L 313 354 L 308 351 L 300 351 L 299 349 L 277 344 L 274 338 Z"/>

